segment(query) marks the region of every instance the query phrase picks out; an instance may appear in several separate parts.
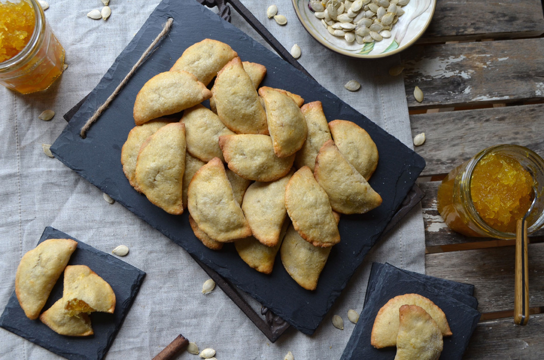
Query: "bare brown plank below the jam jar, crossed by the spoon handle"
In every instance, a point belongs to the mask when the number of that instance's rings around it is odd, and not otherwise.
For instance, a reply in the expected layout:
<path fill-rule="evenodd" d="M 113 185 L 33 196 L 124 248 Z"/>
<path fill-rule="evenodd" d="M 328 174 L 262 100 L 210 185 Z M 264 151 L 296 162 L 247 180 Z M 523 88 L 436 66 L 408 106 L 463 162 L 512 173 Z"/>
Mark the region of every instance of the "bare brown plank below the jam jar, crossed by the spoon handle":
<path fill-rule="evenodd" d="M 482 313 L 514 308 L 514 247 L 425 255 L 425 272 L 474 285 Z M 544 243 L 529 244 L 529 306 L 544 306 Z M 513 326 L 513 325 L 512 325 Z"/>

